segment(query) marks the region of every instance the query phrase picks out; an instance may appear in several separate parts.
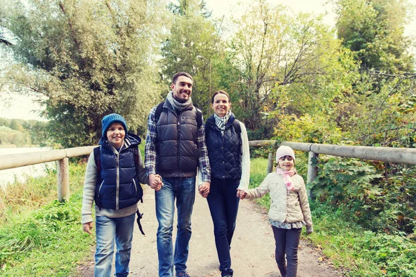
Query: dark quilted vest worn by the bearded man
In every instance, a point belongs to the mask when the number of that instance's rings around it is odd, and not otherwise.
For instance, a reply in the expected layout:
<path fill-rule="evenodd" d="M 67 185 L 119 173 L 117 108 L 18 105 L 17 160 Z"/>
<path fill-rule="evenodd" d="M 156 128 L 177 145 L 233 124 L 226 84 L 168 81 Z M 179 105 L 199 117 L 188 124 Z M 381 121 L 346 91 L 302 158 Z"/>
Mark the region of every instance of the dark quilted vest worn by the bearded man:
<path fill-rule="evenodd" d="M 168 100 L 157 120 L 156 173 L 162 177 L 195 177 L 198 167 L 196 108 L 177 113 Z"/>

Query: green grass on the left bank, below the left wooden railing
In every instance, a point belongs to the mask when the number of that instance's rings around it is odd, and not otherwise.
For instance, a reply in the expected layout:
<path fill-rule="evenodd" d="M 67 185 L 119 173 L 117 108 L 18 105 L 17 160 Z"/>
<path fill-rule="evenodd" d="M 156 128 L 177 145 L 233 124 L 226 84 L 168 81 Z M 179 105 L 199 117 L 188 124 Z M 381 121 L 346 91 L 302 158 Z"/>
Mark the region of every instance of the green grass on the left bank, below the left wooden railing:
<path fill-rule="evenodd" d="M 21 208 L 20 213 L 8 213 L 7 220 L 3 220 L 1 276 L 76 276 L 76 266 L 91 253 L 95 240 L 83 232 L 80 224 L 85 164 L 71 163 L 69 168 L 71 197 L 68 202 L 50 201 L 48 195 L 40 208 Z M 49 181 L 54 172 L 50 175 L 33 179 L 34 183 L 26 184 L 26 189 Z M 54 184 L 56 199 L 56 176 Z M 45 188 L 50 189 L 49 186 Z"/>

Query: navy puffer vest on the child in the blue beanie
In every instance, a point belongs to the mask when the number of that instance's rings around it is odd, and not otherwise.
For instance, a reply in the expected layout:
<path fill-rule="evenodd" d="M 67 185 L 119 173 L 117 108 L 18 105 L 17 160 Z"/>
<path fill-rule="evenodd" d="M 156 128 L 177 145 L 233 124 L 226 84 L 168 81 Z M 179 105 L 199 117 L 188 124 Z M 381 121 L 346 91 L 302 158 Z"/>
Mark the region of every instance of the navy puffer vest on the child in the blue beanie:
<path fill-rule="evenodd" d="M 131 144 L 125 143 L 119 157 L 110 148 L 108 141 L 100 141 L 101 172 L 95 193 L 95 202 L 99 207 L 119 210 L 136 204 L 143 196 L 141 187 L 138 187 L 141 185 L 137 179 L 135 154 L 132 150 L 132 145 L 138 145 L 140 138 L 131 138 L 130 134 L 129 137 Z"/>

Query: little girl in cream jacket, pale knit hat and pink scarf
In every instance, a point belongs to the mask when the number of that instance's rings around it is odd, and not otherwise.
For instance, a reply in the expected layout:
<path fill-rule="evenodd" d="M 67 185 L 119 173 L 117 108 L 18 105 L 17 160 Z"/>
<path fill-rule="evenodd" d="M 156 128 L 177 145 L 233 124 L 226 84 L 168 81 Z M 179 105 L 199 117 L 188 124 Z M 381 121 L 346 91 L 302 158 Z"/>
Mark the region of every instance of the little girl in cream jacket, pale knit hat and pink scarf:
<path fill-rule="evenodd" d="M 306 225 L 306 233 L 313 232 L 311 209 L 304 180 L 295 170 L 295 153 L 292 148 L 280 146 L 276 151 L 276 161 L 276 172 L 267 175 L 257 188 L 239 190 L 239 196 L 240 199 L 254 199 L 270 192 L 268 216 L 275 235 L 277 267 L 281 276 L 295 277 L 302 226 Z"/>

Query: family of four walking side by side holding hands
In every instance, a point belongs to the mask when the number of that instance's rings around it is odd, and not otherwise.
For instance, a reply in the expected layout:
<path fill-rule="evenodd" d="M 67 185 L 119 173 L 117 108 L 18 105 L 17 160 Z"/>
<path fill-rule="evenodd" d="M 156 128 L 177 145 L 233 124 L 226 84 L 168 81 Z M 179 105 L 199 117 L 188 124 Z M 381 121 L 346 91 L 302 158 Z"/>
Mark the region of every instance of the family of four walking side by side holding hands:
<path fill-rule="evenodd" d="M 293 150 L 281 146 L 276 152 L 277 170 L 259 187 L 249 190 L 247 131 L 232 113 L 228 94 L 214 93 L 214 114 L 204 123 L 202 112 L 193 106 L 192 89 L 189 73 L 173 75 L 166 99 L 150 110 L 144 162 L 138 150 L 141 139 L 128 133 L 125 119 L 119 114 L 104 116 L 100 147 L 90 154 L 85 172 L 81 221 L 84 231 L 91 233 L 95 202 L 94 276 L 110 276 L 114 246 L 115 276 L 128 276 L 136 214 L 141 229 L 137 205 L 143 195 L 140 184 L 155 190 L 160 277 L 189 276 L 187 260 L 196 190 L 207 198 L 214 224 L 218 275 L 234 273 L 230 249 L 239 201 L 270 193 L 269 217 L 277 267 L 281 276 L 296 276 L 302 226 L 306 226 L 307 233 L 313 228 Z M 175 210 L 177 232 L 173 243 Z"/>

